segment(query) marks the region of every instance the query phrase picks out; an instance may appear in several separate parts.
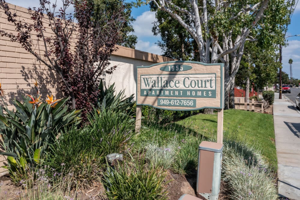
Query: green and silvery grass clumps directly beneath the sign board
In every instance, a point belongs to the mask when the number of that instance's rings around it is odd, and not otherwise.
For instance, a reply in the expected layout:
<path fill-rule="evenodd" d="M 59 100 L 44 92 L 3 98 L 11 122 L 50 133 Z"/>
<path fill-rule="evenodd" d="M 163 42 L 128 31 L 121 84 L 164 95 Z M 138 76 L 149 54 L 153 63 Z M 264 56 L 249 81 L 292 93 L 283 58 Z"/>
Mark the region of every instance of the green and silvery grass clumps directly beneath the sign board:
<path fill-rule="evenodd" d="M 146 150 L 147 160 L 182 175 L 195 172 L 201 141 L 200 134 L 175 123 L 161 126 L 150 124 L 134 139 L 138 149 Z"/>

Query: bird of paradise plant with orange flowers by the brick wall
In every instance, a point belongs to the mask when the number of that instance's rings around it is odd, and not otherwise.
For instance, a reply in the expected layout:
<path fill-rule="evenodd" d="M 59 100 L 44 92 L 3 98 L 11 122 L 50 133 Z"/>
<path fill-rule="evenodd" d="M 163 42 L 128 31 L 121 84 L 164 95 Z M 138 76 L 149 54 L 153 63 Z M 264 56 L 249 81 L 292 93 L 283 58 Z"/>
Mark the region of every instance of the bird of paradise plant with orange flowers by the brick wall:
<path fill-rule="evenodd" d="M 13 101 L 16 110 L 0 106 L 1 147 L 7 156 L 11 178 L 15 183 L 27 178 L 44 161 L 48 144 L 62 133 L 63 128 L 80 123 L 80 111 L 68 111 L 68 98 L 41 102 L 23 97 L 24 103 Z M 31 101 L 32 100 L 32 101 Z M 57 104 L 56 104 L 57 103 Z"/>

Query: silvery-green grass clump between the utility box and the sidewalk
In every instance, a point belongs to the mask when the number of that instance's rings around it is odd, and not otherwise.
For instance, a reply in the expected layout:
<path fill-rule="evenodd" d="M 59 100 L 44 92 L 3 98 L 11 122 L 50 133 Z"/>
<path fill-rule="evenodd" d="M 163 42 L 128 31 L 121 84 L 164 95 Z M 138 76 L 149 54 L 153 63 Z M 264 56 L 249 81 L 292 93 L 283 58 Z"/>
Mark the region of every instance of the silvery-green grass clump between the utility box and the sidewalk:
<path fill-rule="evenodd" d="M 274 177 L 259 151 L 238 142 L 224 142 L 222 169 L 230 199 L 278 198 Z"/>

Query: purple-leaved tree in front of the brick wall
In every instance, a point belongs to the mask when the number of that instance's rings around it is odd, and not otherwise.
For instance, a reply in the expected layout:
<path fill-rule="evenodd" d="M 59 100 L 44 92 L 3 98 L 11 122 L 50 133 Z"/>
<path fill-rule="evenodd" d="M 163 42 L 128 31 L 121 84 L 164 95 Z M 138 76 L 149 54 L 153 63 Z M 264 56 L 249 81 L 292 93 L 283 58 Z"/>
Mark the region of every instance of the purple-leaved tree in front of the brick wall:
<path fill-rule="evenodd" d="M 66 9 L 72 5 L 74 15 L 67 14 Z M 20 43 L 38 61 L 59 75 L 61 89 L 65 96 L 71 97 L 73 109 L 84 109 L 83 114 L 90 111 L 91 104 L 97 102 L 98 77 L 112 73 L 116 67 L 108 68 L 108 65 L 111 53 L 117 49 L 115 44 L 121 38 L 124 8 L 121 6 L 110 15 L 106 10 L 99 10 L 98 14 L 103 17 L 96 21 L 92 20 L 94 4 L 91 0 L 63 0 L 63 7 L 59 9 L 47 0 L 40 0 L 39 8 L 28 9 L 33 24 L 18 20 L 4 0 L 0 0 L 0 8 L 16 27 L 16 34 L 1 30 L 1 36 Z M 74 17 L 78 21 L 76 24 Z M 50 31 L 47 32 L 48 27 Z M 49 33 L 50 36 L 46 36 Z M 71 44 L 75 45 L 75 49 Z M 39 51 L 42 48 L 44 50 Z"/>

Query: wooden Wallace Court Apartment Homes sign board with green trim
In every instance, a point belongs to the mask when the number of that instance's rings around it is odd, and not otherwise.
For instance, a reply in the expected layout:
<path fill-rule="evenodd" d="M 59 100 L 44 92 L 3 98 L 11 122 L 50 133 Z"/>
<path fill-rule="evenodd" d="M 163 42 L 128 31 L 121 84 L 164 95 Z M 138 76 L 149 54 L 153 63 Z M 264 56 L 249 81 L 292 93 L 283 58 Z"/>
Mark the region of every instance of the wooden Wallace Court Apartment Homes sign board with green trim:
<path fill-rule="evenodd" d="M 223 64 L 171 61 L 137 67 L 137 105 L 223 109 Z"/>

